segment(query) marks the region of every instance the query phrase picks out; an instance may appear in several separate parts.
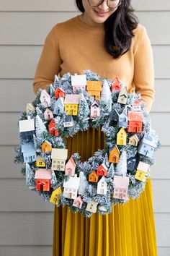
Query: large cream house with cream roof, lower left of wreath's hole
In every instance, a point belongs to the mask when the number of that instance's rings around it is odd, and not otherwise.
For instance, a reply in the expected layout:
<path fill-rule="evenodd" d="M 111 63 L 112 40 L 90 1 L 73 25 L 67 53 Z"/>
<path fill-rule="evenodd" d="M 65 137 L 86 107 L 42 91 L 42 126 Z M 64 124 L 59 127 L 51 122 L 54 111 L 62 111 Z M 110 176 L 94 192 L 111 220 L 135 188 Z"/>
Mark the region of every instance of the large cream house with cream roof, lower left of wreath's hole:
<path fill-rule="evenodd" d="M 51 159 L 52 165 L 51 168 L 54 171 L 64 171 L 65 163 L 67 159 L 68 150 L 63 148 L 52 148 Z"/>

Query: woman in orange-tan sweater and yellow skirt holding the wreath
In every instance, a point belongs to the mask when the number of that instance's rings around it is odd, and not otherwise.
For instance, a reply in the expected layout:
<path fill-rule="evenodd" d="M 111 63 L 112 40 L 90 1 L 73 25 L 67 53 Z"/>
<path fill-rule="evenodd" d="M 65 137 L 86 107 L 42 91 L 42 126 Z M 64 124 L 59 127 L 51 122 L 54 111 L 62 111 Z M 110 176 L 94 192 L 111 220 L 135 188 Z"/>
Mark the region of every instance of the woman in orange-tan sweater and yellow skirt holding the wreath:
<path fill-rule="evenodd" d="M 142 95 L 148 111 L 153 102 L 153 56 L 146 29 L 139 25 L 130 0 L 76 0 L 81 15 L 50 30 L 35 73 L 34 90 L 53 83 L 54 75 L 82 74 L 125 82 Z M 68 139 L 69 155 L 85 161 L 104 148 L 100 130 Z M 53 256 L 156 256 L 151 179 L 138 200 L 115 205 L 112 213 L 84 218 L 55 207 Z"/>

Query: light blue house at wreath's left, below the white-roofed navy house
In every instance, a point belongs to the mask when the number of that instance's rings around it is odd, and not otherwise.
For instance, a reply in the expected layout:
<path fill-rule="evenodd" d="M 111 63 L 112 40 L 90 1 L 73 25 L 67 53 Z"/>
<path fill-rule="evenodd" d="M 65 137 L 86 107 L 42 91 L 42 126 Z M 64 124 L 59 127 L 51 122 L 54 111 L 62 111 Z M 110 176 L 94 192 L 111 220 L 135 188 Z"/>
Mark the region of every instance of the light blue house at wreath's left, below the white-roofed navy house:
<path fill-rule="evenodd" d="M 24 163 L 31 163 L 36 161 L 37 155 L 33 142 L 22 144 L 22 153 L 24 157 Z"/>

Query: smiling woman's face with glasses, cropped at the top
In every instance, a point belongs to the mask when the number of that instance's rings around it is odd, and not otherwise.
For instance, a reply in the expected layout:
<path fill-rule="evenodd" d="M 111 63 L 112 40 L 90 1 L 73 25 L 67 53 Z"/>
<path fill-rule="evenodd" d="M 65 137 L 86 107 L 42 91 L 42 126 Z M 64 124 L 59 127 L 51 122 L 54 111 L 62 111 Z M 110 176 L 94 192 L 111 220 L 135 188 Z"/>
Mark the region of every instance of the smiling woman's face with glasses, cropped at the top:
<path fill-rule="evenodd" d="M 117 0 L 117 4 L 119 1 Z M 84 6 L 84 22 L 89 25 L 103 25 L 103 23 L 108 19 L 108 17 L 114 13 L 117 8 L 112 9 L 107 5 L 107 0 L 104 0 L 99 7 L 91 7 L 88 0 L 82 0 L 82 4 Z"/>

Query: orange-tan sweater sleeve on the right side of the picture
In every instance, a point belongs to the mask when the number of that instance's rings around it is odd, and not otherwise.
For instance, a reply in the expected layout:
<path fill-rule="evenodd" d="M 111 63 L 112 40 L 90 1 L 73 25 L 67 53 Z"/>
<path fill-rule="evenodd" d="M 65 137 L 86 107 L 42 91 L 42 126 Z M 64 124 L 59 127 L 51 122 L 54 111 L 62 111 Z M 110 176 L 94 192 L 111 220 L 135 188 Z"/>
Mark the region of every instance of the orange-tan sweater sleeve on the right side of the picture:
<path fill-rule="evenodd" d="M 141 28 L 141 36 L 134 56 L 133 83 L 136 93 L 141 94 L 142 101 L 146 103 L 147 111 L 150 111 L 154 99 L 153 52 L 146 29 L 143 26 Z"/>

